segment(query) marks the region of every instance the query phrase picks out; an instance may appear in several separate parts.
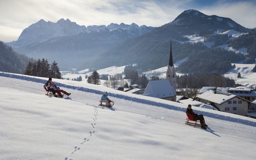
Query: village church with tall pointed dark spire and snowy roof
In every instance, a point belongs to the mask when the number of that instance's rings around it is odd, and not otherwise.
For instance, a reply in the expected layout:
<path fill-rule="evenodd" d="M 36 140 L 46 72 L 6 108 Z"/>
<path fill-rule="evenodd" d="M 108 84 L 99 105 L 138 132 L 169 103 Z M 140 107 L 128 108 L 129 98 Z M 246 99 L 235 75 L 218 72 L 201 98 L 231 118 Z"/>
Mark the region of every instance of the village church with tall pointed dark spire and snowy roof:
<path fill-rule="evenodd" d="M 176 102 L 176 72 L 172 60 L 172 41 L 166 79 L 149 81 L 143 95 Z"/>

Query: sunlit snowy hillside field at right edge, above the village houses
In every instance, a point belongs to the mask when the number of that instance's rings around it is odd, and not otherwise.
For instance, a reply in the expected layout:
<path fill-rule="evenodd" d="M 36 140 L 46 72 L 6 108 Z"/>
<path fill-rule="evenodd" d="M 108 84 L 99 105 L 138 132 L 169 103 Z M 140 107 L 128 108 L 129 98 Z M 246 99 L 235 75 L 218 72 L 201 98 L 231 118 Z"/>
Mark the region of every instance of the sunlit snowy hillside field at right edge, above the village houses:
<path fill-rule="evenodd" d="M 233 64 L 232 64 L 233 65 Z M 235 64 L 236 68 L 232 68 L 224 74 L 225 77 L 233 78 L 236 83 L 243 84 L 249 88 L 256 86 L 256 73 L 252 72 L 255 64 Z M 238 72 L 241 78 L 237 78 Z"/>

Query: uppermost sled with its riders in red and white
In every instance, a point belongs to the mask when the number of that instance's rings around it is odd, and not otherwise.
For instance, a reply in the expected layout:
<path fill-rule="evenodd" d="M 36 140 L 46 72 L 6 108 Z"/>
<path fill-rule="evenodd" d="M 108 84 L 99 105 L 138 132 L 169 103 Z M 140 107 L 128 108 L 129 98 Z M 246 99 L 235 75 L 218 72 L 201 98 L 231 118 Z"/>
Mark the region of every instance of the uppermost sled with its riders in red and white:
<path fill-rule="evenodd" d="M 61 92 L 63 94 L 66 94 L 67 96 L 69 96 L 71 93 L 67 93 L 66 91 L 64 90 L 60 90 L 59 87 L 57 87 L 54 82 L 52 82 L 52 78 L 49 78 L 49 80 L 46 82 L 46 84 L 44 84 L 44 89 L 47 91 L 47 94 L 48 96 L 54 96 L 54 97 L 60 97 L 62 98 L 63 95 L 61 94 Z M 52 92 L 49 93 L 49 92 Z M 57 93 L 57 95 L 55 94 Z"/>

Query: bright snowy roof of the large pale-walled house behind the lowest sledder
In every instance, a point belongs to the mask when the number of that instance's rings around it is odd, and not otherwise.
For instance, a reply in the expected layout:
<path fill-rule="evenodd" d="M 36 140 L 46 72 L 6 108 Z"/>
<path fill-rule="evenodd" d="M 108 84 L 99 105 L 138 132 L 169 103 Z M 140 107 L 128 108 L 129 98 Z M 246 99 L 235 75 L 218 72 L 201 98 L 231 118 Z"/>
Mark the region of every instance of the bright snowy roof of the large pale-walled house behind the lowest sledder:
<path fill-rule="evenodd" d="M 233 98 L 235 98 L 236 95 L 231 94 L 231 95 L 224 95 L 224 94 L 214 94 L 214 91 L 209 90 L 203 94 L 200 94 L 197 96 L 197 98 L 203 99 L 203 100 L 208 100 L 210 102 L 214 102 L 217 104 L 222 104 L 224 102 L 227 102 L 228 100 L 231 100 Z M 244 98 L 242 98 L 243 100 L 245 100 Z M 248 100 L 246 100 L 248 101 Z"/>

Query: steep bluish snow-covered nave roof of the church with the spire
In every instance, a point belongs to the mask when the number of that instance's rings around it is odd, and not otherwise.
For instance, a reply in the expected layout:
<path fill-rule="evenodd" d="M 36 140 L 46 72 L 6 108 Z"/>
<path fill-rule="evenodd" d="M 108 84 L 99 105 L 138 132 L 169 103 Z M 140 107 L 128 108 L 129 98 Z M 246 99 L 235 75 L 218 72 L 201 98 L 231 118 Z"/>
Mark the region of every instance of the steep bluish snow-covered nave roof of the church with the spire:
<path fill-rule="evenodd" d="M 176 96 L 176 92 L 174 92 L 174 88 L 169 80 L 151 80 L 148 82 L 144 95 L 156 98 L 166 98 Z"/>

